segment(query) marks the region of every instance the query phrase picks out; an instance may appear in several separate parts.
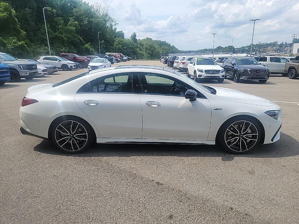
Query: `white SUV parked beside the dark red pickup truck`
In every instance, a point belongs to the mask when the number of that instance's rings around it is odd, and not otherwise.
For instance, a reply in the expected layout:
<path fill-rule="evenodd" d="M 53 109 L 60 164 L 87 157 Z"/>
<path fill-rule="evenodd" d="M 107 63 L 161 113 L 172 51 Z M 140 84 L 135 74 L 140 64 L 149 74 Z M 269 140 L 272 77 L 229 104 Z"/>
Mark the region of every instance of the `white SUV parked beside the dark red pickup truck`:
<path fill-rule="evenodd" d="M 71 62 L 58 56 L 42 56 L 37 61 L 42 64 L 55 65 L 57 68 L 60 68 L 64 71 L 76 69 L 75 62 Z"/>

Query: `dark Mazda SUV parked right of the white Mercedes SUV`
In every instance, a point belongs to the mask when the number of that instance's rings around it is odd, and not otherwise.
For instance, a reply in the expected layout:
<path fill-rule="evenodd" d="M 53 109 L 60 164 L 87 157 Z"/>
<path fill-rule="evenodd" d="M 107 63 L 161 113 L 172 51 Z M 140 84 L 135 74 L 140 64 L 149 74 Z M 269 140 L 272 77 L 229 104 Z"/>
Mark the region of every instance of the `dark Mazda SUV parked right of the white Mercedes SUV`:
<path fill-rule="evenodd" d="M 234 82 L 248 79 L 265 83 L 269 79 L 269 69 L 251 57 L 231 57 L 223 63 L 222 67 L 225 70 L 225 78 L 233 77 Z"/>

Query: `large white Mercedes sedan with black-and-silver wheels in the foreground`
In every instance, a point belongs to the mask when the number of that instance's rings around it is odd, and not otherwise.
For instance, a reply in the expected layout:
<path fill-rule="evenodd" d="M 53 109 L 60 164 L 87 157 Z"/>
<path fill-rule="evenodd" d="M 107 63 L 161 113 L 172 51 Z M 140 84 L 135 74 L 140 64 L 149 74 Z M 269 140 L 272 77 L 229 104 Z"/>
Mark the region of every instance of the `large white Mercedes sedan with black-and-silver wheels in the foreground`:
<path fill-rule="evenodd" d="M 243 154 L 280 138 L 281 108 L 241 91 L 200 85 L 165 67 L 127 65 L 28 88 L 23 134 L 66 153 L 97 143 L 214 145 Z"/>

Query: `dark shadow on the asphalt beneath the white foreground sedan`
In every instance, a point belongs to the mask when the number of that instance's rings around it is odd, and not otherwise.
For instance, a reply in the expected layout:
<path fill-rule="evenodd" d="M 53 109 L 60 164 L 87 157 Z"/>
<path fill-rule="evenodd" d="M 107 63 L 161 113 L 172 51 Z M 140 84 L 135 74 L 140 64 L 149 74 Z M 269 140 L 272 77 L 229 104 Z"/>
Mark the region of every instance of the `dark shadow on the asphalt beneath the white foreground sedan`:
<path fill-rule="evenodd" d="M 34 151 L 71 157 L 131 157 L 131 156 L 175 156 L 175 157 L 219 157 L 231 161 L 234 157 L 280 158 L 299 155 L 299 142 L 292 136 L 280 133 L 280 140 L 272 144 L 259 145 L 253 151 L 234 155 L 225 152 L 219 145 L 182 144 L 93 144 L 80 154 L 65 154 L 52 141 L 43 140 Z"/>

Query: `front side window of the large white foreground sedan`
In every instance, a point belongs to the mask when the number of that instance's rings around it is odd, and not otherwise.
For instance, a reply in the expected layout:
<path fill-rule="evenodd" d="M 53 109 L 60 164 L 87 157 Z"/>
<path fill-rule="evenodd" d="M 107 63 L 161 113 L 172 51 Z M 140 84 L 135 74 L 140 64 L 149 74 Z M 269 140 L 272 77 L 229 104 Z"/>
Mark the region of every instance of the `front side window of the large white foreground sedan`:
<path fill-rule="evenodd" d="M 175 80 L 161 75 L 152 73 L 140 73 L 139 79 L 142 84 L 143 93 L 185 96 L 189 89 Z"/>

